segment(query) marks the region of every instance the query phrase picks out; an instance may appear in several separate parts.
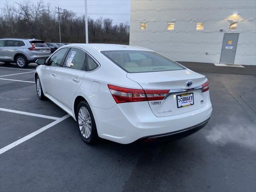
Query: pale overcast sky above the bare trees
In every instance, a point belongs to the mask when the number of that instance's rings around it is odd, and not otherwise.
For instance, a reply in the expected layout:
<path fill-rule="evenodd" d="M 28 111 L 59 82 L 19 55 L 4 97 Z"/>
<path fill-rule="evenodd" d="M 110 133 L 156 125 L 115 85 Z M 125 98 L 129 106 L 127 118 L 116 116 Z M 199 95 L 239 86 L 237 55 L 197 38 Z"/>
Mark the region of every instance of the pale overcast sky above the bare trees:
<path fill-rule="evenodd" d="M 10 5 L 24 0 L 7 0 Z M 30 0 L 36 3 L 38 0 Z M 6 0 L 0 0 L 0 8 L 4 8 Z M 84 14 L 84 0 L 44 0 L 44 4 L 50 3 L 52 8 L 60 8 L 74 11 L 76 14 Z M 88 16 L 97 19 L 111 18 L 114 23 L 130 22 L 130 0 L 87 0 Z"/>

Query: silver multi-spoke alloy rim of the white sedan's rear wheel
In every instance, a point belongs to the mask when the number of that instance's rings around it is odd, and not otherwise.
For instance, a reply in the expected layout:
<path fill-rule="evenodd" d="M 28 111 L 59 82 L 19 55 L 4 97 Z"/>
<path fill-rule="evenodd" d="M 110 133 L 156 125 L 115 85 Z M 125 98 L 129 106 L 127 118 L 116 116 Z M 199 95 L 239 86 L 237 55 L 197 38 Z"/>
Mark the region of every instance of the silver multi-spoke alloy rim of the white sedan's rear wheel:
<path fill-rule="evenodd" d="M 84 106 L 78 112 L 78 126 L 82 136 L 88 139 L 92 133 L 92 120 L 88 110 Z"/>

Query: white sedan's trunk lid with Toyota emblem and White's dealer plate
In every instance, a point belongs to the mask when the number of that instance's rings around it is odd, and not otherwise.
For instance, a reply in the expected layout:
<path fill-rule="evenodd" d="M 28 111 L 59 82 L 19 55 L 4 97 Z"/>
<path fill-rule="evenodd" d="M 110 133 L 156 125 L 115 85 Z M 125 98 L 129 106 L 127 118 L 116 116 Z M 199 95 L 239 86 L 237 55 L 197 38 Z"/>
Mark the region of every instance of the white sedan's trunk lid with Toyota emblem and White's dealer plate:
<path fill-rule="evenodd" d="M 207 79 L 204 75 L 191 70 L 127 73 L 127 77 L 140 84 L 144 90 L 170 90 L 163 100 L 148 101 L 152 112 L 156 116 L 177 115 L 206 105 L 207 98 L 206 94 L 201 91 L 201 85 Z M 190 81 L 192 85 L 188 86 Z M 178 102 L 178 98 L 180 102 Z M 178 106 L 178 103 L 182 105 L 182 102 L 186 103 L 188 99 L 190 99 L 189 104 L 191 105 L 186 107 Z"/>

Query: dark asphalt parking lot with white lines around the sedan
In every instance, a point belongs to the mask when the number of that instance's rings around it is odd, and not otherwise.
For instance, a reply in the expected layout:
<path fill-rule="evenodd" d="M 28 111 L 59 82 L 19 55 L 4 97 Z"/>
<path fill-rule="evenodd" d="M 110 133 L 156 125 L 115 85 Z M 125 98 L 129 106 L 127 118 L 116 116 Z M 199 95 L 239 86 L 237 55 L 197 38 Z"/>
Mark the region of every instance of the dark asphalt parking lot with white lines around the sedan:
<path fill-rule="evenodd" d="M 35 67 L 0 64 L 1 192 L 256 191 L 255 68 L 206 66 L 212 117 L 187 138 L 90 146 L 66 112 L 37 98 Z"/>

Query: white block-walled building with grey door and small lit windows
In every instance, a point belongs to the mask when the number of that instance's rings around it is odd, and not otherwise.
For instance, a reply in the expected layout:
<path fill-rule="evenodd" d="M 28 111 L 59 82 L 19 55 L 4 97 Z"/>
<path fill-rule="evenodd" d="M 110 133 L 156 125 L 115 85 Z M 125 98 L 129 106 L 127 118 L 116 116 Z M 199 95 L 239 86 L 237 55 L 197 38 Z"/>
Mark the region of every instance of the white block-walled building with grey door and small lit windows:
<path fill-rule="evenodd" d="M 132 0 L 130 45 L 176 61 L 256 65 L 256 1 Z"/>

